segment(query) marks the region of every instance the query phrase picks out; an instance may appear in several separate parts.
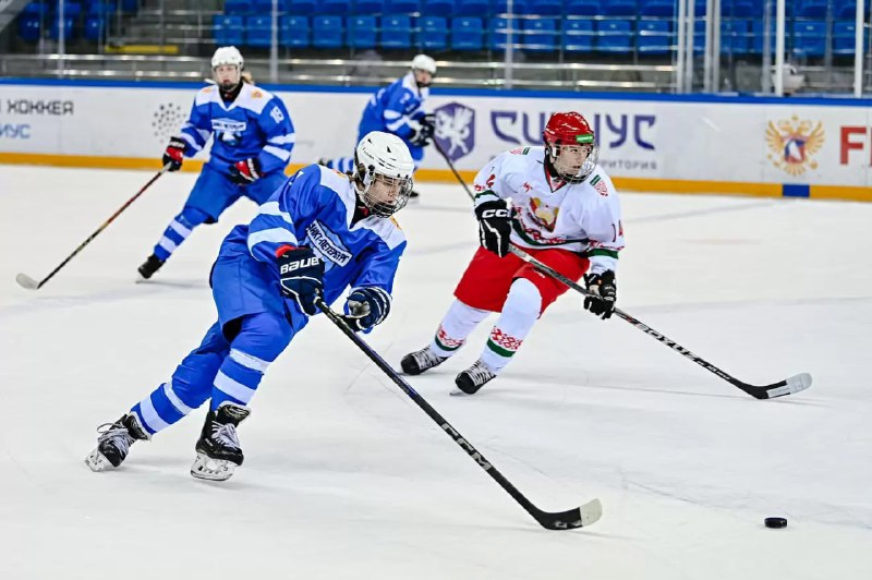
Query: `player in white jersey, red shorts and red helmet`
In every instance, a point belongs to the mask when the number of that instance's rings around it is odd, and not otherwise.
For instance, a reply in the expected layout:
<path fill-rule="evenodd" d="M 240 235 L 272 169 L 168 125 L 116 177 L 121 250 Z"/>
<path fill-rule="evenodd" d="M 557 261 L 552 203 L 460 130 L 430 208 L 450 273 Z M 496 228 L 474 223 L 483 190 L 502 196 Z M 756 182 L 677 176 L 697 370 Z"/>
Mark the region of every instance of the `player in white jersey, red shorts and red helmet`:
<path fill-rule="evenodd" d="M 475 177 L 481 247 L 433 341 L 402 359 L 407 374 L 448 360 L 479 323 L 498 312 L 482 355 L 455 379 L 461 391 L 476 392 L 502 371 L 536 319 L 567 291 L 511 254 L 509 244 L 572 280 L 584 275 L 593 294 L 584 299 L 584 307 L 603 318 L 611 315 L 618 252 L 623 247 L 617 192 L 596 164 L 594 133 L 581 114 L 555 113 L 543 138 L 544 147 L 506 152 Z"/>

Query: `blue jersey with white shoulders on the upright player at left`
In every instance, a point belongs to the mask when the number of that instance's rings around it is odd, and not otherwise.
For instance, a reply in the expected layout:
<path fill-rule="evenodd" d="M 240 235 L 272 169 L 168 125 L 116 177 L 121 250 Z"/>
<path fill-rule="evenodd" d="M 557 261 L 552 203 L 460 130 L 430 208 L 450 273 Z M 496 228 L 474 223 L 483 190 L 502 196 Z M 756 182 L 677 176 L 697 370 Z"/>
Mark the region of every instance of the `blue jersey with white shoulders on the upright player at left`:
<path fill-rule="evenodd" d="M 223 101 L 217 86 L 197 93 L 191 117 L 182 128 L 184 154 L 196 155 L 214 136 L 208 165 L 223 174 L 243 159 L 256 158 L 261 173 L 283 171 L 295 141 L 293 123 L 281 99 L 243 83 L 235 100 Z"/>

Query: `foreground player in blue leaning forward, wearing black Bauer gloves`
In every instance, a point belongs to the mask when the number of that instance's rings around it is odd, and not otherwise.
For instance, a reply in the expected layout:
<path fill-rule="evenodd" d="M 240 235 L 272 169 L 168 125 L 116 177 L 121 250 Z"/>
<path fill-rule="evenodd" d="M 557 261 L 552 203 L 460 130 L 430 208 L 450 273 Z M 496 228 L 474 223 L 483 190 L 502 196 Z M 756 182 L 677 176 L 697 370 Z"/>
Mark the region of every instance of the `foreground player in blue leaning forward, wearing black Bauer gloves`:
<path fill-rule="evenodd" d="M 243 455 L 237 427 L 269 364 L 318 312 L 349 287 L 344 319 L 368 331 L 390 312 L 405 237 L 391 217 L 409 200 L 414 164 L 395 135 L 374 132 L 358 145 L 354 172 L 318 165 L 298 171 L 249 226 L 221 244 L 210 285 L 218 321 L 172 378 L 114 423 L 98 428 L 85 459 L 117 468 L 130 446 L 175 423 L 207 400 L 209 411 L 191 468 L 223 481 Z"/>

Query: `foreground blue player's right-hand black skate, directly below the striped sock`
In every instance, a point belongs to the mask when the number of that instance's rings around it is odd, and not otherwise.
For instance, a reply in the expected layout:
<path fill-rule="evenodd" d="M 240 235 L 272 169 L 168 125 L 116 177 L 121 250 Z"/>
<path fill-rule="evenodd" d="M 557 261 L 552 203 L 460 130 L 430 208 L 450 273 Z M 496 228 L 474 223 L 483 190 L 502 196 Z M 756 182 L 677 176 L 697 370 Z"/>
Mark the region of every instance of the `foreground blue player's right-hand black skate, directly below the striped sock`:
<path fill-rule="evenodd" d="M 237 426 L 249 416 L 247 407 L 223 402 L 206 414 L 206 424 L 197 440 L 197 458 L 191 466 L 191 475 L 201 480 L 230 479 L 244 457 L 237 436 Z"/>

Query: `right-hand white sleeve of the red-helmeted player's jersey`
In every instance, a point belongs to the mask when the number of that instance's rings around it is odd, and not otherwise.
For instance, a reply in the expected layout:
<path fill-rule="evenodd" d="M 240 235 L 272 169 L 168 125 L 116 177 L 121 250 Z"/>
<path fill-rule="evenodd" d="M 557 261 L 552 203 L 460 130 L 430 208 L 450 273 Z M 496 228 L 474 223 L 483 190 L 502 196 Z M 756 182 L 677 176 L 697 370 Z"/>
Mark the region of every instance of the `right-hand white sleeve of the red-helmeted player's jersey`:
<path fill-rule="evenodd" d="M 621 220 L 620 200 L 611 184 L 611 180 L 597 173 L 591 178 L 600 195 L 590 212 L 582 218 L 582 229 L 590 240 L 588 257 L 591 261 L 591 274 L 602 274 L 618 268 L 618 252 L 623 250 L 623 222 Z M 604 194 L 605 192 L 605 194 Z"/>

